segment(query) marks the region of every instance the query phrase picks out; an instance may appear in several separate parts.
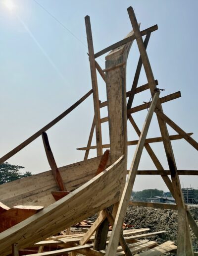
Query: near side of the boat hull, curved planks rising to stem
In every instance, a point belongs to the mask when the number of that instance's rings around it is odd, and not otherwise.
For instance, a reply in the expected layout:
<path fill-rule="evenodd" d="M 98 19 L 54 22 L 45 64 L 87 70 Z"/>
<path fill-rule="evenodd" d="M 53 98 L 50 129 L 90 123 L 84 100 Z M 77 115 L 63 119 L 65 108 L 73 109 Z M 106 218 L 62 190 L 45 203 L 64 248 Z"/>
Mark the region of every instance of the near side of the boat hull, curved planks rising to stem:
<path fill-rule="evenodd" d="M 125 183 L 123 173 L 117 172 L 122 161 L 123 156 L 80 188 L 1 232 L 0 255 L 11 253 L 12 244 L 31 246 L 116 203 Z"/>

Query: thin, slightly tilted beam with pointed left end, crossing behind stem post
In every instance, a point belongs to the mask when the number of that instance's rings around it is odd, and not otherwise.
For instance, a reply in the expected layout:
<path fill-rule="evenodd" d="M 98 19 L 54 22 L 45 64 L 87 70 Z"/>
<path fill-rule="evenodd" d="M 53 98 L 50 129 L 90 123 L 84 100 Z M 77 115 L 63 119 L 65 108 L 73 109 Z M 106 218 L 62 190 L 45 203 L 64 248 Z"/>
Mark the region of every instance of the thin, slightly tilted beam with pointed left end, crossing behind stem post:
<path fill-rule="evenodd" d="M 187 133 L 187 134 L 192 135 L 193 132 L 190 132 L 190 133 Z M 180 135 L 180 134 L 170 135 L 169 137 L 170 137 L 170 140 L 176 140 L 176 139 L 182 139 L 183 138 L 183 136 Z M 148 138 L 148 139 L 145 140 L 145 144 L 161 142 L 161 141 L 163 141 L 162 137 Z M 138 144 L 138 140 L 128 141 L 128 146 L 133 146 L 133 145 L 137 145 L 137 144 Z M 109 148 L 109 147 L 110 147 L 110 144 L 103 144 L 102 145 L 102 148 Z M 77 148 L 77 150 L 88 150 L 88 149 L 96 149 L 96 146 Z"/>

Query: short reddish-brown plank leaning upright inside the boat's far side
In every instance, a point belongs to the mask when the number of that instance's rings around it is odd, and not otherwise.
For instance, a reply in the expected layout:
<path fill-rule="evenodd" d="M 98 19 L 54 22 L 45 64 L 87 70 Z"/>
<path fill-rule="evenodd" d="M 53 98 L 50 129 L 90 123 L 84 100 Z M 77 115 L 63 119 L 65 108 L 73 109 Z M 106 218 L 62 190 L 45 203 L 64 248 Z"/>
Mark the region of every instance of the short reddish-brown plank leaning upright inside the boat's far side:
<path fill-rule="evenodd" d="M 49 145 L 48 135 L 45 131 L 42 132 L 42 139 L 43 139 L 46 155 L 47 155 L 47 158 L 48 158 L 49 166 L 51 167 L 51 172 L 52 172 L 53 177 L 55 179 L 56 185 L 57 185 L 57 187 L 59 188 L 60 191 L 65 191 L 66 192 L 67 191 L 66 187 L 64 185 L 63 179 L 61 177 L 61 174 L 58 170 L 55 159 L 53 157 L 53 153 L 52 153 L 50 145 Z"/>

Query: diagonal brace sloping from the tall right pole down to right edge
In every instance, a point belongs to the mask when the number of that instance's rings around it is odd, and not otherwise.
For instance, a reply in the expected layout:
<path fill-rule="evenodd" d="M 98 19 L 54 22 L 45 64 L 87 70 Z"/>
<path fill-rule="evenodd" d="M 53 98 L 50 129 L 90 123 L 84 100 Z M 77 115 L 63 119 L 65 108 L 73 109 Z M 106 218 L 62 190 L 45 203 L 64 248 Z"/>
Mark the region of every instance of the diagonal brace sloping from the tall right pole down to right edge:
<path fill-rule="evenodd" d="M 170 118 L 168 118 L 164 113 L 162 113 L 160 110 L 155 109 L 155 113 L 157 116 L 159 116 L 162 120 L 164 120 L 171 128 L 176 130 L 180 135 L 183 136 L 186 141 L 188 141 L 195 149 L 198 150 L 198 142 L 190 137 L 188 133 L 186 133 L 183 129 L 181 129 L 179 126 L 177 126 Z"/>

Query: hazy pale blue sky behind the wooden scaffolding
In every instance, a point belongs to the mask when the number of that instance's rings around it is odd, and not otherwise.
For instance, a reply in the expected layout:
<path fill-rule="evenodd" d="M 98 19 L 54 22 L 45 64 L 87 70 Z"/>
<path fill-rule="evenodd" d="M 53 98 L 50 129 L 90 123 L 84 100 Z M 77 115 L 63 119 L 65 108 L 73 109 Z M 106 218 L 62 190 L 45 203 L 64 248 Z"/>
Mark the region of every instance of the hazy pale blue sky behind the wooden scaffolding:
<path fill-rule="evenodd" d="M 37 0 L 85 45 L 57 23 L 34 0 L 13 0 L 9 11 L 0 1 L 0 156 L 71 106 L 91 89 L 84 17 L 90 15 L 95 52 L 121 40 L 132 29 L 127 7 L 132 5 L 141 29 L 158 24 L 151 34 L 148 57 L 161 97 L 181 90 L 182 98 L 163 104 L 164 113 L 198 140 L 198 1 L 184 0 Z M 104 57 L 98 59 L 104 67 Z M 127 89 L 139 59 L 134 42 L 127 65 Z M 99 97 L 105 100 L 105 84 L 98 76 Z M 147 83 L 144 71 L 139 85 Z M 134 106 L 148 101 L 148 91 L 135 97 Z M 83 160 L 92 120 L 93 98 L 69 114 L 47 133 L 58 166 Z M 142 128 L 147 110 L 134 115 Z M 101 117 L 105 117 L 105 109 Z M 170 134 L 176 134 L 171 128 Z M 108 143 L 107 123 L 102 124 L 103 143 Z M 160 136 L 154 117 L 148 137 Z M 128 126 L 128 139 L 137 139 Z M 95 141 L 93 141 L 95 144 Z M 197 170 L 198 154 L 185 140 L 172 142 L 178 169 Z M 168 168 L 162 143 L 151 145 L 163 167 Z M 128 147 L 129 166 L 135 147 Z M 96 156 L 93 150 L 90 156 Z M 39 137 L 8 160 L 33 174 L 49 170 Z M 143 152 L 140 170 L 154 170 Z M 181 176 L 185 187 L 198 189 L 198 177 Z M 160 177 L 138 177 L 134 190 L 167 190 Z"/>

